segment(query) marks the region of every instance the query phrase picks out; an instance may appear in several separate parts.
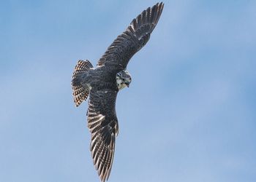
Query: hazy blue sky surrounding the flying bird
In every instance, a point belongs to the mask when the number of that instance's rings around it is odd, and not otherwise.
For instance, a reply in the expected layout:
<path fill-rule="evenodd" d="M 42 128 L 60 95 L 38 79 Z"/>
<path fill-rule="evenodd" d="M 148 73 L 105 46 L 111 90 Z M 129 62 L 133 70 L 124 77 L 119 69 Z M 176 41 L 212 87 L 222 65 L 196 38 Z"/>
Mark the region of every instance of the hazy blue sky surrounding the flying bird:
<path fill-rule="evenodd" d="M 157 1 L 1 1 L 0 181 L 99 181 L 70 86 Z M 256 181 L 256 1 L 165 1 L 117 99 L 109 181 Z"/>

